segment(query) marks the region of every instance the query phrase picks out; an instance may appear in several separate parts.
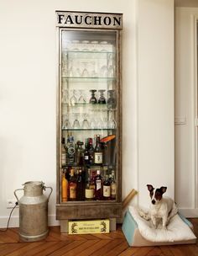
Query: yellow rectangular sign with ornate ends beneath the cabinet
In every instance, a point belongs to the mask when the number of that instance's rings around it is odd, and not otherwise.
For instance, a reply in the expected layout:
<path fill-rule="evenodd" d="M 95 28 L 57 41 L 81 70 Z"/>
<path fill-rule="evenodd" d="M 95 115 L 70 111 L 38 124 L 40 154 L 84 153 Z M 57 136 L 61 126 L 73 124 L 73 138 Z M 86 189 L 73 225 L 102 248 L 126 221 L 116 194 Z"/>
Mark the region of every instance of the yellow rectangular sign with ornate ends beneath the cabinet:
<path fill-rule="evenodd" d="M 109 233 L 109 220 L 69 221 L 69 234 Z"/>

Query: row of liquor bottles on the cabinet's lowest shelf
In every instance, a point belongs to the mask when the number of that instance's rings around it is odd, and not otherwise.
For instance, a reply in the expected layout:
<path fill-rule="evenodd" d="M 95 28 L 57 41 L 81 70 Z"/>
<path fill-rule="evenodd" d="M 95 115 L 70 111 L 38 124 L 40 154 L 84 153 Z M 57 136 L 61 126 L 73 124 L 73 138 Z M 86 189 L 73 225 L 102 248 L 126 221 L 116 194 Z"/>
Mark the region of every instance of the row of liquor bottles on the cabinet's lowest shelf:
<path fill-rule="evenodd" d="M 103 175 L 104 173 L 104 175 Z M 112 167 L 64 168 L 61 200 L 116 200 L 117 182 Z"/>

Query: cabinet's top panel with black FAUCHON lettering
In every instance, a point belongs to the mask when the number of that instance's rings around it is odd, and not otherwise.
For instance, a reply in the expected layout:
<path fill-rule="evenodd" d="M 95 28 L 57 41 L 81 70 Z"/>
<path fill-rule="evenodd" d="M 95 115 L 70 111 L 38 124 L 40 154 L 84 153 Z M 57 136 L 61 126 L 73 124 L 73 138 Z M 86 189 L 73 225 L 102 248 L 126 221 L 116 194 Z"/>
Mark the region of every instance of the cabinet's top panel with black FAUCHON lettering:
<path fill-rule="evenodd" d="M 56 26 L 86 29 L 122 29 L 122 13 L 56 11 Z"/>

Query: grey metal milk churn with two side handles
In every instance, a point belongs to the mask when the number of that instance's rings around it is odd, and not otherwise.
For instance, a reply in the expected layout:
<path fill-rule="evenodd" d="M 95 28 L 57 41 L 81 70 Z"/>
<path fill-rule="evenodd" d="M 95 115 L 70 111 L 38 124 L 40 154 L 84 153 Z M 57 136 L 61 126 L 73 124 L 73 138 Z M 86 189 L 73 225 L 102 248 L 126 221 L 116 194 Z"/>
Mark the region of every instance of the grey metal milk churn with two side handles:
<path fill-rule="evenodd" d="M 52 193 L 51 187 L 45 187 L 42 181 L 29 181 L 23 184 L 23 196 L 18 200 L 19 205 L 19 237 L 23 241 L 33 242 L 48 236 L 48 201 Z M 43 194 L 50 189 L 50 195 Z"/>

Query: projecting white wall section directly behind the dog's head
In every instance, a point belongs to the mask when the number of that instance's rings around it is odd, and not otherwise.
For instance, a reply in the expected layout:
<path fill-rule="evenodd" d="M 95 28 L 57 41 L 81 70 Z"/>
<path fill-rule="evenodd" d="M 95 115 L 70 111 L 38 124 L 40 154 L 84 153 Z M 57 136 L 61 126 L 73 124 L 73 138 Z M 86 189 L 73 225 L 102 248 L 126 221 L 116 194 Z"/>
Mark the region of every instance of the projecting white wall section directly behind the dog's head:
<path fill-rule="evenodd" d="M 174 197 L 174 1 L 138 1 L 138 188 Z"/>

